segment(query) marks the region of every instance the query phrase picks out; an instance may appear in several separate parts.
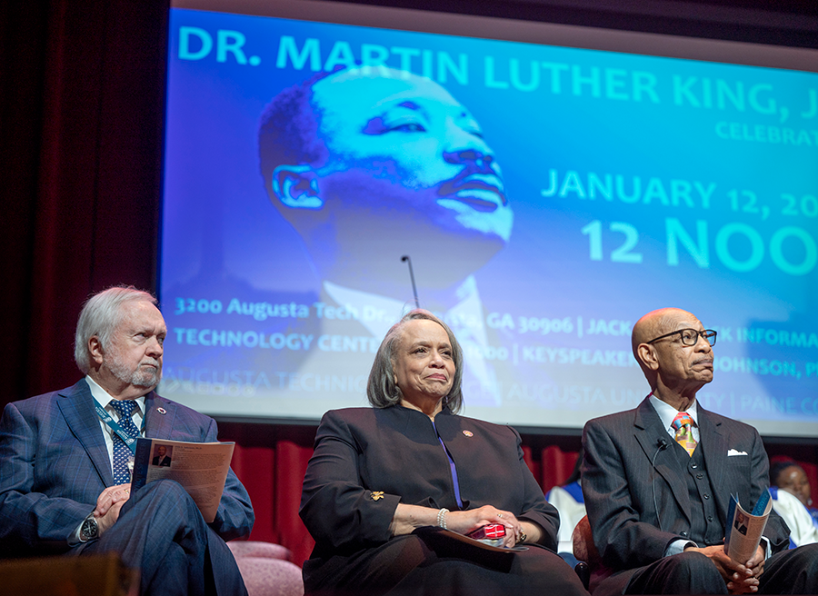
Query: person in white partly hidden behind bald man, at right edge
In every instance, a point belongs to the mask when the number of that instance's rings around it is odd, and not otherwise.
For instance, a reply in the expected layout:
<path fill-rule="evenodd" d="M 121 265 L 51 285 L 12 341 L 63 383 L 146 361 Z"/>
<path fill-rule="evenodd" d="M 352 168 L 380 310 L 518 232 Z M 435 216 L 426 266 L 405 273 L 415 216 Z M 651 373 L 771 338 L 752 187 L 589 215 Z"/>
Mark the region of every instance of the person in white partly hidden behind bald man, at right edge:
<path fill-rule="evenodd" d="M 770 481 L 773 509 L 790 528 L 790 547 L 818 542 L 818 519 L 803 468 L 792 460 L 775 462 L 770 468 Z"/>

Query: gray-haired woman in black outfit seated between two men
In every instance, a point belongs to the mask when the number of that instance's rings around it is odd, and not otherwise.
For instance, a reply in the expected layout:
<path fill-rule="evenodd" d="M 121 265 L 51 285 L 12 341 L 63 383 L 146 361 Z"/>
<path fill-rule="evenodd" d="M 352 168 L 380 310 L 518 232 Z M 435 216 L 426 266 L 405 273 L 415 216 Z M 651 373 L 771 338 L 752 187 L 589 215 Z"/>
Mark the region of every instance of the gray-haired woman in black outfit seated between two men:
<path fill-rule="evenodd" d="M 373 407 L 324 414 L 301 499 L 307 594 L 587 593 L 554 554 L 559 515 L 519 434 L 458 415 L 462 371 L 451 329 L 412 311 L 375 356 Z M 463 538 L 489 524 L 496 546 Z"/>

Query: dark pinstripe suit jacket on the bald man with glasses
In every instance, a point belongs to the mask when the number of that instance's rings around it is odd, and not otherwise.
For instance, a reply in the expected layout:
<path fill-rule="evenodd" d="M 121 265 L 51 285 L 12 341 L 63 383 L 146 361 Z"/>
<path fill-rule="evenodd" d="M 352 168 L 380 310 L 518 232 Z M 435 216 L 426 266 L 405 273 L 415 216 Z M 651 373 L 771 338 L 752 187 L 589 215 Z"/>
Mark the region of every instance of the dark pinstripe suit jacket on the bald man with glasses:
<path fill-rule="evenodd" d="M 767 455 L 752 426 L 707 412 L 701 404 L 697 409 L 699 448 L 724 527 L 731 494 L 752 506 L 766 489 Z M 585 424 L 585 506 L 604 564 L 617 572 L 594 593 L 622 593 L 633 572 L 661 560 L 671 542 L 690 540 L 693 503 L 684 470 L 680 471 L 673 449 L 658 448 L 660 439 L 672 441 L 649 398 L 635 410 Z M 764 535 L 773 552 L 787 548 L 789 529 L 775 512 Z M 768 587 L 769 593 L 777 591 Z"/>

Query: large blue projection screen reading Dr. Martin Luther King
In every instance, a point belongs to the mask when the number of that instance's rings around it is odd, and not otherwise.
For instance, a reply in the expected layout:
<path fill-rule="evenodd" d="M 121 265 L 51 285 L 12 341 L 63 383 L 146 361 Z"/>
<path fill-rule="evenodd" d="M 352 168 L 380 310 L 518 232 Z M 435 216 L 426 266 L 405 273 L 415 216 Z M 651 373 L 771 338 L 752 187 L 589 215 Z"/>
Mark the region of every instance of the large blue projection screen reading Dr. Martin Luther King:
<path fill-rule="evenodd" d="M 633 323 L 677 306 L 718 332 L 704 407 L 814 435 L 815 65 L 669 35 L 175 1 L 160 391 L 317 421 L 366 403 L 378 345 L 419 304 L 463 344 L 465 415 L 579 429 L 643 399 Z"/>

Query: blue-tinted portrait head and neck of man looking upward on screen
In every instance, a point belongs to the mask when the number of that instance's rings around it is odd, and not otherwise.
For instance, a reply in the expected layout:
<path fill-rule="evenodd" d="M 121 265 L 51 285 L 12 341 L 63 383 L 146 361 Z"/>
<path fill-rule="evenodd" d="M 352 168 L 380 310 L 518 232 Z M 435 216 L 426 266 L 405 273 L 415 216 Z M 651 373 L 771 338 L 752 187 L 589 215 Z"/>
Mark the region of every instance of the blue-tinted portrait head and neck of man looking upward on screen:
<path fill-rule="evenodd" d="M 384 66 L 316 75 L 267 105 L 259 155 L 336 302 L 408 303 L 410 254 L 424 307 L 479 304 L 472 273 L 509 242 L 514 214 L 480 125 L 440 84 Z"/>

